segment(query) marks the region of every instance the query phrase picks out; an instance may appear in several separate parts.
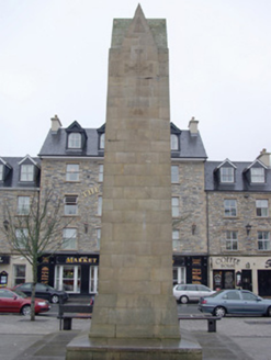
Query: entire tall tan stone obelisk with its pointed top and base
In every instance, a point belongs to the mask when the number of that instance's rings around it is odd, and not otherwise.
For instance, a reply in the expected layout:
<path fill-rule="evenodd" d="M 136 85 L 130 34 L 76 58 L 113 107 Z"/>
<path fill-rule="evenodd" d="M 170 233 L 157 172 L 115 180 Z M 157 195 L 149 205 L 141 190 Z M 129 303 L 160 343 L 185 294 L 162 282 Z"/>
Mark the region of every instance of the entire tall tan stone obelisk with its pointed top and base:
<path fill-rule="evenodd" d="M 172 296 L 166 21 L 139 5 L 114 20 L 105 126 L 99 295 L 67 359 L 201 359 L 182 345 Z"/>

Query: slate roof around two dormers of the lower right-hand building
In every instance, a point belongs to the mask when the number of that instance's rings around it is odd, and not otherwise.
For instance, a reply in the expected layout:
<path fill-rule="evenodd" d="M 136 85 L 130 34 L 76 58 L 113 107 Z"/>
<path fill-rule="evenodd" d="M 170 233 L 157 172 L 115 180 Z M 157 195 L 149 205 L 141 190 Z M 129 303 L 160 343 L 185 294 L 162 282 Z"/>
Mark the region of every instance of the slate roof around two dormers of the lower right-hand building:
<path fill-rule="evenodd" d="M 266 182 L 264 183 L 250 183 L 246 177 L 251 165 L 255 161 L 232 161 L 235 169 L 234 183 L 219 183 L 215 176 L 215 170 L 223 161 L 206 161 L 205 162 L 205 190 L 206 191 L 252 191 L 252 192 L 267 192 L 271 191 L 271 169 L 266 168 Z"/>

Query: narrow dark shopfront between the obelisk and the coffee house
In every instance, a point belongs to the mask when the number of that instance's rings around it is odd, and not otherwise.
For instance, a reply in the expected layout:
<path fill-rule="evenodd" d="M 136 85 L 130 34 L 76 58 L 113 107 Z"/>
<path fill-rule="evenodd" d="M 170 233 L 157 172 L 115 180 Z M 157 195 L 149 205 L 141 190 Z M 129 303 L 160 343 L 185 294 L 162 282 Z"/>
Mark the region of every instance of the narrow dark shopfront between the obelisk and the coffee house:
<path fill-rule="evenodd" d="M 173 256 L 173 285 L 193 283 L 207 285 L 207 257 Z"/>

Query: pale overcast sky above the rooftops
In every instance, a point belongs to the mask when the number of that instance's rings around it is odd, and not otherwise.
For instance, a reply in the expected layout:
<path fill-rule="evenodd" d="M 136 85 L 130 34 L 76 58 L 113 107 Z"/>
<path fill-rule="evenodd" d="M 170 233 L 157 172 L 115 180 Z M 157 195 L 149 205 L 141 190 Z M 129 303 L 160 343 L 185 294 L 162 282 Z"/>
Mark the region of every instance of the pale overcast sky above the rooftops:
<path fill-rule="evenodd" d="M 36 156 L 55 114 L 105 122 L 112 23 L 135 0 L 0 0 L 0 156 Z M 271 1 L 142 0 L 167 20 L 171 122 L 192 116 L 210 160 L 271 151 Z"/>

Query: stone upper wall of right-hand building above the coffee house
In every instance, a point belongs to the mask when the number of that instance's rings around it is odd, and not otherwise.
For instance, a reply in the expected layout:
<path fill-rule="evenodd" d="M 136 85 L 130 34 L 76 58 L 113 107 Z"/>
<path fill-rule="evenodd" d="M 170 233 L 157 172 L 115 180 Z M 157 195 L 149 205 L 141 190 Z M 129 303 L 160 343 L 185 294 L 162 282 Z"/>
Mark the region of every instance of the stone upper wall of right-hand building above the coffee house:
<path fill-rule="evenodd" d="M 225 216 L 224 200 L 237 201 L 237 215 Z M 256 214 L 256 200 L 268 200 L 269 215 L 260 217 Z M 208 244 L 210 255 L 269 255 L 270 250 L 258 250 L 258 230 L 271 232 L 271 194 L 252 192 L 208 192 Z M 251 225 L 247 235 L 246 225 Z M 226 232 L 238 232 L 238 250 L 226 249 Z"/>

